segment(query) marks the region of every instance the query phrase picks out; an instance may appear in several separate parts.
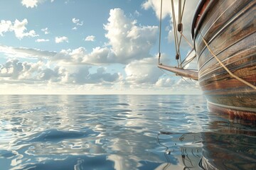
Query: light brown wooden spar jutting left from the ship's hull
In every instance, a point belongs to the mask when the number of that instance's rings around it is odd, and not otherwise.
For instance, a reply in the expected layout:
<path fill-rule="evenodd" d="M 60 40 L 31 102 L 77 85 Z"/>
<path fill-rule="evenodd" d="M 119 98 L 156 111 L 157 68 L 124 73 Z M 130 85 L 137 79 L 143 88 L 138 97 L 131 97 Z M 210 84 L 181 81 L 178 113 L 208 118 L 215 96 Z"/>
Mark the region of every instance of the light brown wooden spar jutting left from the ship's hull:
<path fill-rule="evenodd" d="M 169 72 L 174 72 L 177 76 L 198 80 L 198 72 L 194 72 L 194 71 L 187 70 L 187 69 L 180 69 L 177 67 L 170 67 L 170 66 L 166 66 L 163 64 L 159 64 L 158 67 L 160 69 L 165 69 Z"/>

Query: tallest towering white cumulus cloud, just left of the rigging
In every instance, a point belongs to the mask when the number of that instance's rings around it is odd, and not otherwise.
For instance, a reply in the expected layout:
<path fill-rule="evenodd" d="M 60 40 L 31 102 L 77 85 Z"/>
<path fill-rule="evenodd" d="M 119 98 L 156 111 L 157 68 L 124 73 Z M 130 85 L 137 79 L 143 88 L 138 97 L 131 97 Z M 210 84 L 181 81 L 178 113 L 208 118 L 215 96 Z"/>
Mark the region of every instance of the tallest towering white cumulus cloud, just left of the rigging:
<path fill-rule="evenodd" d="M 137 26 L 137 21 L 127 18 L 122 9 L 114 8 L 110 10 L 105 30 L 116 62 L 127 64 L 134 59 L 150 57 L 149 51 L 156 42 L 158 28 Z"/>

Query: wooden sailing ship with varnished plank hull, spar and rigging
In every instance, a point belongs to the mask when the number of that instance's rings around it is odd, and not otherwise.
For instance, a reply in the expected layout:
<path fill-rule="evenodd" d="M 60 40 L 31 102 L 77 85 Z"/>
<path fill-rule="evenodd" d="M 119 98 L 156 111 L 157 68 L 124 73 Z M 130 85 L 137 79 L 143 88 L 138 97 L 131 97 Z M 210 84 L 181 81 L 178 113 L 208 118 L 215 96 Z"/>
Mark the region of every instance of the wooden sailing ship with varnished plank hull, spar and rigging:
<path fill-rule="evenodd" d="M 183 29 L 184 3 L 178 0 L 176 36 Z M 255 4 L 255 0 L 199 1 L 191 26 L 196 71 L 184 69 L 181 64 L 162 64 L 159 52 L 159 68 L 198 81 L 210 111 L 228 113 L 231 118 L 256 120 Z M 179 55 L 176 60 L 180 60 Z"/>

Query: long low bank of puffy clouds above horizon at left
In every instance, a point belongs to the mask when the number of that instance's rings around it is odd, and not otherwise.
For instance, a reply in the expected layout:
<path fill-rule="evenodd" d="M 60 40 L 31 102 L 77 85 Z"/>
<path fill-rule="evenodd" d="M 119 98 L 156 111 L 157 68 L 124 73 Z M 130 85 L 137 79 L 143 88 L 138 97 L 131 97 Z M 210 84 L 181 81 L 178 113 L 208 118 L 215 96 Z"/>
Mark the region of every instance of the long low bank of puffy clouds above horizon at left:
<path fill-rule="evenodd" d="M 71 69 L 70 69 L 71 68 Z M 119 81 L 120 74 L 110 74 L 104 67 L 98 67 L 97 72 L 91 73 L 89 66 L 72 67 L 46 67 L 46 64 L 39 61 L 20 62 L 17 59 L 10 59 L 5 64 L 0 64 L 0 79 L 9 83 L 42 84 L 58 82 L 65 84 L 102 84 Z"/>

